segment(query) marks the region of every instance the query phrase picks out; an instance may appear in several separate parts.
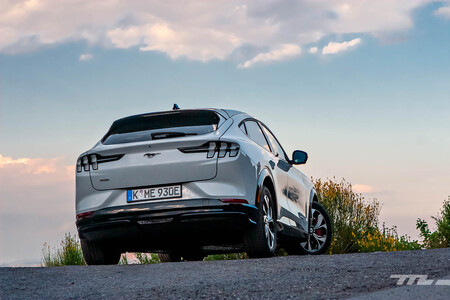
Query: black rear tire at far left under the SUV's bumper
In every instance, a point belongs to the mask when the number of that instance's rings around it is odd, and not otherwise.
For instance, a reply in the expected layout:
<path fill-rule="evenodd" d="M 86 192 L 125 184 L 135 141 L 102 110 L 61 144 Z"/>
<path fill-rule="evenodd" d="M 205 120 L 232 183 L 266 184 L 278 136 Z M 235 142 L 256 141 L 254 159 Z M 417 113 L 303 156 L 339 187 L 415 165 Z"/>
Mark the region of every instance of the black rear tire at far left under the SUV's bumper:
<path fill-rule="evenodd" d="M 119 263 L 120 251 L 87 240 L 80 240 L 80 243 L 84 260 L 88 265 L 117 265 Z"/>

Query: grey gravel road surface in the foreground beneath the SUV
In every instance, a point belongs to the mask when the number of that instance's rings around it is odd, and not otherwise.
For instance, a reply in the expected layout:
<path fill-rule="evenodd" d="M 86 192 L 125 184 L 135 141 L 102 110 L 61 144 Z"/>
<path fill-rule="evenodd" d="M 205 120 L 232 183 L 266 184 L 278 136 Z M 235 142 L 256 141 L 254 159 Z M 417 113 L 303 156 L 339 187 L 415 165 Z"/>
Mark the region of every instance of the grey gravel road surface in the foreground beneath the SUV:
<path fill-rule="evenodd" d="M 389 295 L 450 299 L 449 285 L 434 281 L 431 286 L 397 286 L 392 274 L 450 278 L 450 248 L 156 265 L 0 268 L 0 299 L 385 299 Z"/>

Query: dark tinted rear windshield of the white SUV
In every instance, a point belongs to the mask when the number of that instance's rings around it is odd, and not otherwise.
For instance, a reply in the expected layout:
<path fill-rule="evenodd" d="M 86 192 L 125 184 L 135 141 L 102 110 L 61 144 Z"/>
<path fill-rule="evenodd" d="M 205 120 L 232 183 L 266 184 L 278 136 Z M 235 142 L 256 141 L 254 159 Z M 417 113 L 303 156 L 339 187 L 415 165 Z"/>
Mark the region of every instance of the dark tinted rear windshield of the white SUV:
<path fill-rule="evenodd" d="M 115 121 L 105 145 L 201 135 L 215 131 L 221 118 L 214 111 L 193 110 L 131 116 Z"/>

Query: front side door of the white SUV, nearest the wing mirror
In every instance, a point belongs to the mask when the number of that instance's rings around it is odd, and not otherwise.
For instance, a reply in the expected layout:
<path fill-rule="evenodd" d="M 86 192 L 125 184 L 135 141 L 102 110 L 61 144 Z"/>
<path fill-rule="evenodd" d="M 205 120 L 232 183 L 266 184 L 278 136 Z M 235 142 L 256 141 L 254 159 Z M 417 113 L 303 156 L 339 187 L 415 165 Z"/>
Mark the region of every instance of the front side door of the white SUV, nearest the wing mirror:
<path fill-rule="evenodd" d="M 275 149 L 275 155 L 278 157 L 278 169 L 282 170 L 285 174 L 284 176 L 286 176 L 287 181 L 283 187 L 283 194 L 288 202 L 289 212 L 283 212 L 283 214 L 292 220 L 291 225 L 306 230 L 308 228 L 306 205 L 308 204 L 309 195 L 307 195 L 304 175 L 289 163 L 286 152 L 270 129 L 262 123 L 261 127 L 272 148 Z"/>

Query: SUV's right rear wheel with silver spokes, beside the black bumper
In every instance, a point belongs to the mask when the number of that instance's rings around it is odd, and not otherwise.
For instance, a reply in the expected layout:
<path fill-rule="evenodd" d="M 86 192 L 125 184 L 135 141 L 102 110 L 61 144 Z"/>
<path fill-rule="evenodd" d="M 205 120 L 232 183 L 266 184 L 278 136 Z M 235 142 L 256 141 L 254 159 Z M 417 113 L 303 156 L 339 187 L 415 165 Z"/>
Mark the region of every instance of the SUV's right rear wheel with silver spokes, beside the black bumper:
<path fill-rule="evenodd" d="M 270 190 L 263 186 L 258 201 L 256 225 L 244 236 L 244 246 L 249 257 L 270 257 L 277 250 L 274 200 Z"/>

